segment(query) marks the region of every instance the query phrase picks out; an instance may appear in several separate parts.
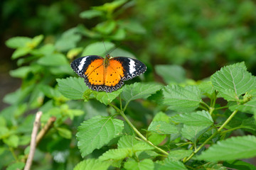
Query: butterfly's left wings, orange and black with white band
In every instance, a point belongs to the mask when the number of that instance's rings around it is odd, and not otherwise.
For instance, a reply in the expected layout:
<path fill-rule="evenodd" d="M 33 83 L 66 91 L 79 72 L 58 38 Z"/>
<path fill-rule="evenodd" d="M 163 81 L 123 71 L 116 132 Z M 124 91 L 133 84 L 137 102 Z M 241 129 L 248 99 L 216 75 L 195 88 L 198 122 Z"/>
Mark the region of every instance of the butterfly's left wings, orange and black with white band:
<path fill-rule="evenodd" d="M 74 60 L 71 68 L 85 78 L 85 84 L 92 90 L 102 90 L 104 85 L 104 58 L 97 55 L 89 55 Z"/>

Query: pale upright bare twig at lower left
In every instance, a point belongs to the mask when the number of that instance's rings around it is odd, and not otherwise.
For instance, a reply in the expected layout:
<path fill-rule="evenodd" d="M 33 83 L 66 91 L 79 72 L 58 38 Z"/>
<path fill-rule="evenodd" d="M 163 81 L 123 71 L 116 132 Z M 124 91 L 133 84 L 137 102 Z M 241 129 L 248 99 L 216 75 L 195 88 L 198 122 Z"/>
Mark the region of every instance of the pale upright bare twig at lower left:
<path fill-rule="evenodd" d="M 29 170 L 31 168 L 31 164 L 33 161 L 33 156 L 35 154 L 35 150 L 36 150 L 36 135 L 38 132 L 38 128 L 40 127 L 40 118 L 41 115 L 43 113 L 41 111 L 38 111 L 38 113 L 36 113 L 36 119 L 33 123 L 33 130 L 31 133 L 31 145 L 30 145 L 30 150 L 29 150 L 29 154 L 28 154 L 28 159 L 26 161 L 26 165 L 24 170 Z"/>

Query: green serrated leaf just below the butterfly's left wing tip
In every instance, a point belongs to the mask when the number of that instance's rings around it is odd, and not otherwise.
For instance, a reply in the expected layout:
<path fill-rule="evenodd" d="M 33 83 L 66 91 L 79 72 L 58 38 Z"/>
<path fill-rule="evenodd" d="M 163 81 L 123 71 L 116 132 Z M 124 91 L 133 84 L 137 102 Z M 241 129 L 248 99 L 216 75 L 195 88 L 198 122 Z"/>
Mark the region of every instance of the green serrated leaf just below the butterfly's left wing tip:
<path fill-rule="evenodd" d="M 82 99 L 83 93 L 88 89 L 84 79 L 80 77 L 68 77 L 66 79 L 56 79 L 58 90 L 63 96 L 70 99 Z"/>

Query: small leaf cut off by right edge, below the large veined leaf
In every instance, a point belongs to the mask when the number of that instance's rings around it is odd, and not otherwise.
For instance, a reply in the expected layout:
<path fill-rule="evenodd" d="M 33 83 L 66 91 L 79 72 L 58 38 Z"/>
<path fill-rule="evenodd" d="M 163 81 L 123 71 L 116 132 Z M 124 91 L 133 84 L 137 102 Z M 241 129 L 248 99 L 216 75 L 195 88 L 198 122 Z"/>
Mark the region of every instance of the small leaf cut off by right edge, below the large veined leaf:
<path fill-rule="evenodd" d="M 230 106 L 229 108 L 231 111 L 238 110 L 244 113 L 256 113 L 256 98 L 242 105 L 234 105 Z"/>

